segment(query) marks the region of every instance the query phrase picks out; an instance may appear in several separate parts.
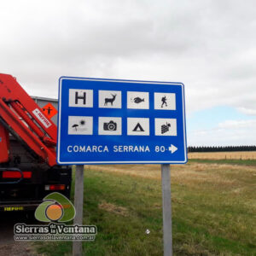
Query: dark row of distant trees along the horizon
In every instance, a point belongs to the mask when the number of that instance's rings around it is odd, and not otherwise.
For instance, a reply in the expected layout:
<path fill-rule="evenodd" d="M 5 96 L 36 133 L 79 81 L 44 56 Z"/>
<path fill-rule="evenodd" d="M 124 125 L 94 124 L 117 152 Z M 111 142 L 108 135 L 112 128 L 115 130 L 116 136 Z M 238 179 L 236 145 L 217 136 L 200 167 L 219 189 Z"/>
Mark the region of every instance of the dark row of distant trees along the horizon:
<path fill-rule="evenodd" d="M 256 151 L 256 146 L 189 147 L 188 152 Z"/>

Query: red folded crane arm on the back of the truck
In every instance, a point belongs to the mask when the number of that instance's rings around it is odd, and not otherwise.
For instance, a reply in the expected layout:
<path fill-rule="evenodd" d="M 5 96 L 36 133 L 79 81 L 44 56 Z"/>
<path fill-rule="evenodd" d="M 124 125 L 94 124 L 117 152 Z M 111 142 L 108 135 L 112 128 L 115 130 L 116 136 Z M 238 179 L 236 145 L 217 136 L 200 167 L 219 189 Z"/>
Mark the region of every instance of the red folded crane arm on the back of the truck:
<path fill-rule="evenodd" d="M 0 163 L 9 160 L 9 133 L 20 137 L 42 162 L 56 165 L 56 125 L 13 76 L 0 73 Z"/>

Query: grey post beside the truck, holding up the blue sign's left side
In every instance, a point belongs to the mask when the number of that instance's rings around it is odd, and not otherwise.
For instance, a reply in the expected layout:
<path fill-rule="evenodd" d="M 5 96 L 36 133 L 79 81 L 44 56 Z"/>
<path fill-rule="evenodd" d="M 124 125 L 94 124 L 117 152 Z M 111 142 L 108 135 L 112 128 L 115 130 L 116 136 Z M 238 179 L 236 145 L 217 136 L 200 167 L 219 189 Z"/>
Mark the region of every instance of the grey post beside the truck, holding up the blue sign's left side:
<path fill-rule="evenodd" d="M 84 166 L 76 166 L 75 172 L 75 195 L 74 207 L 76 216 L 73 224 L 83 224 L 83 206 L 84 206 Z M 73 241 L 73 256 L 81 256 L 83 253 L 82 241 Z"/>

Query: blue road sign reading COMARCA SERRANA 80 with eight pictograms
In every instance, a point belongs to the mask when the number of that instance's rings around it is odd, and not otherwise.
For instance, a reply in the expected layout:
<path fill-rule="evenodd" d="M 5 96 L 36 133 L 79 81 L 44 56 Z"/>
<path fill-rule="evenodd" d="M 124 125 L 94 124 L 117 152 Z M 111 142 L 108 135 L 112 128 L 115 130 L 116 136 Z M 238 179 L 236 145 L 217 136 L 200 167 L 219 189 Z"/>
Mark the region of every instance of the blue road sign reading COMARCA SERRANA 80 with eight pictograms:
<path fill-rule="evenodd" d="M 57 162 L 187 162 L 181 83 L 61 77 Z"/>

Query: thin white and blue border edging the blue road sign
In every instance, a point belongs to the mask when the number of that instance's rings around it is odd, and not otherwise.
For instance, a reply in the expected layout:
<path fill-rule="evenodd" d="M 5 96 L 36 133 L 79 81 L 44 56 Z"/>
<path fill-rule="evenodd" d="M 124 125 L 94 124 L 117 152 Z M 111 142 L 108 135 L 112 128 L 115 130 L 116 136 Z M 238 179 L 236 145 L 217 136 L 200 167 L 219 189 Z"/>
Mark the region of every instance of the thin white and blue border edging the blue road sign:
<path fill-rule="evenodd" d="M 98 82 L 114 82 L 114 83 L 129 83 L 129 84 L 164 84 L 164 85 L 177 85 L 182 88 L 182 98 L 183 98 L 183 138 L 184 138 L 184 155 L 185 159 L 183 161 L 79 161 L 79 162 L 62 162 L 60 160 L 60 150 L 61 150 L 61 90 L 62 90 L 62 80 L 79 80 L 79 81 L 98 81 Z M 59 165 L 104 165 L 104 164 L 185 164 L 188 162 L 187 158 L 187 136 L 186 136 L 186 119 L 185 119 L 185 99 L 184 99 L 184 84 L 175 82 L 154 82 L 154 81 L 137 81 L 137 80 L 121 80 L 121 79 L 92 79 L 92 78 L 75 78 L 75 77 L 61 77 L 59 79 L 59 106 L 58 106 L 58 137 L 57 137 L 57 163 Z"/>

